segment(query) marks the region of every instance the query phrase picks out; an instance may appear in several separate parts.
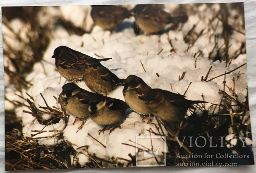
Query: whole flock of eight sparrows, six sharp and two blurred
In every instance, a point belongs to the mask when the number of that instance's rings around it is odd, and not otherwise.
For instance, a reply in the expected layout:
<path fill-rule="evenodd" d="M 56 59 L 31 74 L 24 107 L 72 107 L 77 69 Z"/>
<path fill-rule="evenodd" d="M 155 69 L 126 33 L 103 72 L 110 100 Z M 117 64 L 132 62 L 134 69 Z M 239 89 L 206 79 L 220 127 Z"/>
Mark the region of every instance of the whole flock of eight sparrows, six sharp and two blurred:
<path fill-rule="evenodd" d="M 115 5 L 92 6 L 91 16 L 95 23 L 111 32 L 125 19 L 134 15 L 137 26 L 146 33 L 157 33 L 169 23 L 186 22 L 188 16 L 172 17 L 159 5 L 136 5 L 132 10 Z M 58 102 L 62 109 L 72 115 L 91 118 L 99 125 L 120 124 L 125 119 L 125 111 L 131 108 L 142 115 L 155 115 L 166 122 L 180 122 L 192 104 L 205 103 L 191 101 L 179 94 L 161 89 L 152 89 L 141 78 L 130 75 L 120 79 L 100 62 L 112 58 L 96 59 L 66 46 L 54 50 L 55 65 L 71 83 L 63 85 Z M 88 92 L 75 82 L 84 80 L 92 90 Z M 122 100 L 107 97 L 119 86 L 124 86 Z M 149 118 L 150 120 L 150 118 Z"/>

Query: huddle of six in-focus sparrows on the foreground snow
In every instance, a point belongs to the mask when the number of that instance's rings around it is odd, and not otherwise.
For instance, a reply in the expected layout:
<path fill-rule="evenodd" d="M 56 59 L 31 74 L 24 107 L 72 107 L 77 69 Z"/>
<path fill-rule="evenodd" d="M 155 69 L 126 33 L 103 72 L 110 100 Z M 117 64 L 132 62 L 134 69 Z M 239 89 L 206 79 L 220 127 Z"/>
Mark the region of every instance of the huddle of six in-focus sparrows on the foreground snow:
<path fill-rule="evenodd" d="M 58 98 L 62 109 L 79 118 L 89 117 L 99 125 L 122 123 L 128 108 L 141 115 L 160 117 L 167 123 L 179 123 L 193 104 L 207 103 L 187 100 L 167 90 L 152 89 L 135 75 L 120 79 L 100 63 L 111 58 L 96 59 L 66 46 L 57 47 L 52 58 L 61 76 L 72 81 L 62 86 Z M 94 93 L 75 84 L 82 79 Z M 124 86 L 125 102 L 107 97 L 119 86 Z"/>

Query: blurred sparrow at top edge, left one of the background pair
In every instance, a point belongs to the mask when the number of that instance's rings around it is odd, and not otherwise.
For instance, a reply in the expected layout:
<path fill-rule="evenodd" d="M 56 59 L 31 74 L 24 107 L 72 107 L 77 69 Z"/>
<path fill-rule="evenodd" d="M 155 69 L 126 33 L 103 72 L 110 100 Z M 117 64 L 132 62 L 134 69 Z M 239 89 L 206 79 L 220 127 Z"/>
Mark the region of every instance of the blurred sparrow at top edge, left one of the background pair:
<path fill-rule="evenodd" d="M 107 5 L 92 6 L 91 16 L 94 23 L 103 29 L 113 31 L 131 12 L 124 7 Z"/>

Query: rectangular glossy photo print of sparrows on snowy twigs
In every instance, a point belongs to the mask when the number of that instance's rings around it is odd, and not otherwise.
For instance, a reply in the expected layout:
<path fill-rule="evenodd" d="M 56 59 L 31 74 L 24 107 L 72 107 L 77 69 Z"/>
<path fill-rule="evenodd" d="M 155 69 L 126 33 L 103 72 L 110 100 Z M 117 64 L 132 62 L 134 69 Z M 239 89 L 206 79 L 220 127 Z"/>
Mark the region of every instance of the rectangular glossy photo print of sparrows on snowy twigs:
<path fill-rule="evenodd" d="M 254 164 L 243 3 L 2 7 L 6 170 Z"/>

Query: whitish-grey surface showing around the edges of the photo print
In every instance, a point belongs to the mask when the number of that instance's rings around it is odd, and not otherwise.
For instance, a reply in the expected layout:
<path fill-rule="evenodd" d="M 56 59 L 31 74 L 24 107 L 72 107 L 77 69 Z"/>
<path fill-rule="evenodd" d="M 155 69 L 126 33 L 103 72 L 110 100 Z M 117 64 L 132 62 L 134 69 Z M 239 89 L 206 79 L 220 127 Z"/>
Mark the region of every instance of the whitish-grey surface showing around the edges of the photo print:
<path fill-rule="evenodd" d="M 89 5 L 89 4 L 142 4 L 142 3 L 216 3 L 216 2 L 241 2 L 241 0 L 0 0 L 1 6 L 63 6 L 63 5 Z M 256 0 L 245 0 L 245 22 L 246 22 L 246 47 L 247 47 L 247 67 L 248 67 L 248 91 L 250 116 L 253 132 L 253 150 L 254 158 L 256 158 Z M 0 18 L 2 23 L 2 18 Z M 4 80 L 3 80 L 3 50 L 2 50 L 2 25 L 0 26 L 0 173 L 5 172 L 5 124 L 4 124 Z M 216 172 L 216 171 L 232 171 L 235 172 L 256 172 L 255 165 L 241 165 L 237 167 L 140 167 L 140 168 L 126 168 L 126 169 L 90 169 L 90 170 L 51 170 L 47 172 Z M 16 173 L 24 171 L 15 171 Z M 27 172 L 27 171 L 26 171 Z M 46 172 L 46 171 L 30 171 L 30 172 Z"/>

